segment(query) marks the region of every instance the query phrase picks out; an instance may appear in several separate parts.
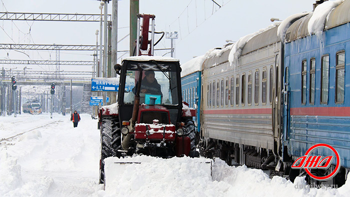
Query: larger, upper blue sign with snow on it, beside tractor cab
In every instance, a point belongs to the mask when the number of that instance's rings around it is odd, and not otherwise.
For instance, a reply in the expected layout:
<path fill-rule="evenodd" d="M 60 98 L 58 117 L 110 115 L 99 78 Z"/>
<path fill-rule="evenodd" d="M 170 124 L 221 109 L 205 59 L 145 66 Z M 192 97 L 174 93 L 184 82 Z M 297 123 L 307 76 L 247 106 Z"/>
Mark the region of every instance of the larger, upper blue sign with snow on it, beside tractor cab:
<path fill-rule="evenodd" d="M 91 91 L 117 92 L 118 83 L 117 78 L 92 78 Z"/>

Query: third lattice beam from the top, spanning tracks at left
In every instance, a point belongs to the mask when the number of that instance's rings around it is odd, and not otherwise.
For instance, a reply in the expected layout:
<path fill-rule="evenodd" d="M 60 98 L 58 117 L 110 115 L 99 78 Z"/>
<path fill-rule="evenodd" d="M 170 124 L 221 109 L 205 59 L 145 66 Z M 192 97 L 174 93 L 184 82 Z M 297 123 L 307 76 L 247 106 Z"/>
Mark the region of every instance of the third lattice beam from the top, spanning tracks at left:
<path fill-rule="evenodd" d="M 35 65 L 56 65 L 57 61 L 54 60 L 13 60 L 13 59 L 0 59 L 0 64 L 35 64 Z M 92 66 L 93 61 L 59 61 L 60 65 L 80 65 L 80 66 Z"/>

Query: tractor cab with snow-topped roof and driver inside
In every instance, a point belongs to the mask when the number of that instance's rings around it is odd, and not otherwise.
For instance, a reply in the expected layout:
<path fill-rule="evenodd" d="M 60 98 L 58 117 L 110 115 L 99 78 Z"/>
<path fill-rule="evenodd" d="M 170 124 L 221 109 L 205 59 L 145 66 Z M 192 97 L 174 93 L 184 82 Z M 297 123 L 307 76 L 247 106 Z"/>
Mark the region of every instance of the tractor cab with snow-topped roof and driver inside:
<path fill-rule="evenodd" d="M 119 66 L 120 79 L 118 90 L 118 107 L 120 122 L 129 121 L 140 83 L 139 105 L 162 106 L 145 110 L 137 117 L 135 123 L 152 123 L 152 118 L 159 124 L 176 125 L 181 117 L 182 97 L 180 85 L 180 66 L 177 59 L 156 56 L 132 56 L 123 60 Z M 118 68 L 116 68 L 118 70 Z M 164 112 L 164 109 L 168 113 Z M 137 115 L 138 111 L 135 112 Z M 150 120 L 152 119 L 152 120 Z M 170 120 L 170 121 L 168 121 Z"/>

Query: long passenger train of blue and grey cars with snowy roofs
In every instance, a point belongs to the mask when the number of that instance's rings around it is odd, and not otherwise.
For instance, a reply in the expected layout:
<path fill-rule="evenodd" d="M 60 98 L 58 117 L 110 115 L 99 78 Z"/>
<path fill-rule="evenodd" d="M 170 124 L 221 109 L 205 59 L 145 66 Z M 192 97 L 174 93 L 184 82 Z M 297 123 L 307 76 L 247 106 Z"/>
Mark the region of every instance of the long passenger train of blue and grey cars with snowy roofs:
<path fill-rule="evenodd" d="M 348 10 L 350 0 L 316 1 L 312 12 L 182 64 L 182 98 L 196 109 L 200 154 L 269 170 L 271 177 L 343 185 L 350 172 Z M 328 169 L 292 168 L 317 144 L 340 157 Z M 329 179 L 313 178 L 334 169 Z"/>

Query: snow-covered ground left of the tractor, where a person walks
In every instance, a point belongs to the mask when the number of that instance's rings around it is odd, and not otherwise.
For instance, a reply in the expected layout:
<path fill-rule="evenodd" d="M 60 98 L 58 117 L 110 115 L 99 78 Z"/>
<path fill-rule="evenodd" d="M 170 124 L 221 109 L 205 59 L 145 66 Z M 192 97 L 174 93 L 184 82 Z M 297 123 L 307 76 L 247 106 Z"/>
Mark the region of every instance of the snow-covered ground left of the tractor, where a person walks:
<path fill-rule="evenodd" d="M 49 114 L 0 117 L 7 136 L 32 130 L 0 142 L 0 196 L 91 196 L 100 190 L 96 120 L 80 117 L 77 128 L 70 116 L 56 113 L 52 119 Z M 37 128 L 40 124 L 46 126 Z"/>

